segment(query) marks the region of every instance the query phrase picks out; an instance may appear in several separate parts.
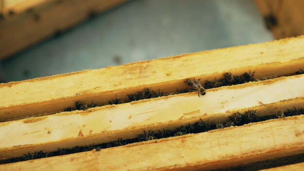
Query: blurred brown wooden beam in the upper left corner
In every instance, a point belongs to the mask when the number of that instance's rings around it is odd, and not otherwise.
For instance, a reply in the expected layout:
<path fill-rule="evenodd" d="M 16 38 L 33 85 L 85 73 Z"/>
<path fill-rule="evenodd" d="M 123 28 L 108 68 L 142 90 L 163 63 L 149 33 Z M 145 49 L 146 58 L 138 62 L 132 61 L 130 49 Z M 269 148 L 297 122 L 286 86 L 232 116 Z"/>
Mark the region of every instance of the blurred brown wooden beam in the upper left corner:
<path fill-rule="evenodd" d="M 126 1 L 4 0 L 3 19 L 0 19 L 0 59 Z"/>

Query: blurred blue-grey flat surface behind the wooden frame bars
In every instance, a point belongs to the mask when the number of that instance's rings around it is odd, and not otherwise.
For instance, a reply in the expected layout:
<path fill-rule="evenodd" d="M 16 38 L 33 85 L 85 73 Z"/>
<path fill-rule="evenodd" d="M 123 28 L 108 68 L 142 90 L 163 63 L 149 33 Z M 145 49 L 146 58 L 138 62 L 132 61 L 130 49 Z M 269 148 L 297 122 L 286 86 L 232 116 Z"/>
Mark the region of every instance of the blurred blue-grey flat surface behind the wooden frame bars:
<path fill-rule="evenodd" d="M 133 0 L 2 62 L 19 81 L 272 40 L 253 0 Z"/>

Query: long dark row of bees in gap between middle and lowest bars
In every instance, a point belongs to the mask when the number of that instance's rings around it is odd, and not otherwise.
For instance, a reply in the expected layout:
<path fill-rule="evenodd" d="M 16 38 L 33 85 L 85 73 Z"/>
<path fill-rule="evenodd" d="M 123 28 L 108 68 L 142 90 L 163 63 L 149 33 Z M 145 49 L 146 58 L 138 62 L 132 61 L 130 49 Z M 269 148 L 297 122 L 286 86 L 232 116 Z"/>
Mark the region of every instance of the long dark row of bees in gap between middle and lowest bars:
<path fill-rule="evenodd" d="M 89 146 L 75 146 L 73 148 L 58 148 L 58 150 L 54 152 L 48 152 L 44 153 L 43 151 L 34 152 L 33 154 L 24 154 L 23 157 L 17 157 L 12 158 L 8 160 L 2 160 L 0 163 L 13 163 L 18 161 L 24 161 L 24 160 L 32 160 L 37 158 L 44 158 L 44 157 L 51 157 L 51 156 L 57 156 L 57 155 L 64 155 L 64 154 L 73 154 L 73 153 L 79 153 L 79 152 L 86 152 L 91 151 L 93 149 L 96 149 L 96 151 L 100 151 L 101 149 L 105 148 L 111 148 L 111 147 L 117 147 L 122 146 L 134 142 L 141 142 L 141 141 L 149 141 L 153 139 L 160 139 L 160 138 L 167 138 L 167 137 L 176 137 L 176 136 L 183 136 L 186 134 L 196 134 L 201 132 L 207 132 L 213 129 L 221 129 L 225 127 L 230 126 L 241 126 L 250 122 L 257 122 L 257 121 L 263 121 L 263 120 L 269 120 L 269 119 L 275 119 L 275 118 L 285 118 L 288 116 L 296 116 L 296 115 L 303 115 L 304 109 L 300 108 L 297 109 L 294 107 L 294 109 L 287 109 L 287 111 L 278 111 L 275 113 L 275 115 L 270 115 L 267 117 L 259 117 L 258 114 L 256 114 L 255 110 L 248 110 L 244 113 L 236 112 L 233 117 L 229 117 L 230 120 L 228 120 L 225 123 L 209 123 L 209 120 L 207 122 L 204 122 L 202 119 L 199 122 L 196 122 L 194 124 L 188 123 L 187 125 L 182 125 L 181 127 L 177 128 L 175 131 L 170 131 L 169 129 L 163 129 L 162 131 L 158 131 L 158 133 L 154 133 L 153 131 L 149 130 L 148 132 L 144 131 L 144 134 L 138 135 L 137 138 L 134 139 L 126 139 L 122 140 L 122 138 L 118 138 L 117 141 L 103 143 L 103 144 L 97 144 L 97 145 L 89 145 Z"/>

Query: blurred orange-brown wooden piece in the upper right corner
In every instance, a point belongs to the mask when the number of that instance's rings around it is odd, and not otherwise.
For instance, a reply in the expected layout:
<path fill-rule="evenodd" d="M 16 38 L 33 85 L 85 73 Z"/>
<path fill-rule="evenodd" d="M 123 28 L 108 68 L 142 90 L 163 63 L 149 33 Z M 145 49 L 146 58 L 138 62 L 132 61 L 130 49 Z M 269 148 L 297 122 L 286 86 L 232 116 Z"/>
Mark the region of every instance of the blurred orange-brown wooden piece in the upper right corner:
<path fill-rule="evenodd" d="M 276 39 L 304 34 L 303 0 L 255 0 Z M 272 22 L 271 22 L 272 21 Z"/>

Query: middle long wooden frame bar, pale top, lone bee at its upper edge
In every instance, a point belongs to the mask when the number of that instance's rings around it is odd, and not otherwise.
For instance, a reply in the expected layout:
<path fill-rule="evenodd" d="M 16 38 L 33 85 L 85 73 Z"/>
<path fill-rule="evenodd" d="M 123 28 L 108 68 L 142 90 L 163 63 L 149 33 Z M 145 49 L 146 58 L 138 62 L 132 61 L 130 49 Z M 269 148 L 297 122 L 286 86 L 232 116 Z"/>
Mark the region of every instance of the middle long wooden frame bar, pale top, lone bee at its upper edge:
<path fill-rule="evenodd" d="M 55 151 L 138 137 L 143 130 L 175 130 L 200 118 L 223 123 L 241 110 L 260 116 L 304 106 L 304 74 L 0 123 L 0 157 Z"/>

